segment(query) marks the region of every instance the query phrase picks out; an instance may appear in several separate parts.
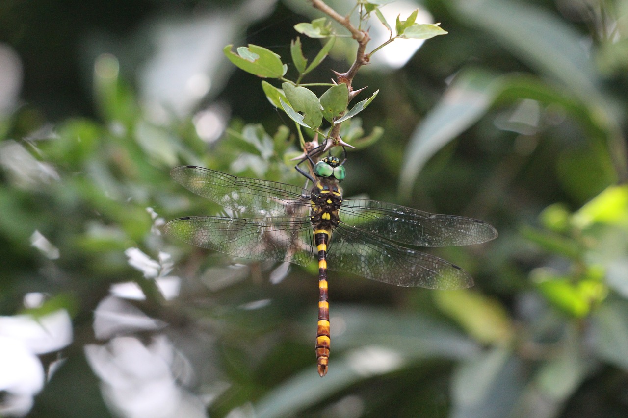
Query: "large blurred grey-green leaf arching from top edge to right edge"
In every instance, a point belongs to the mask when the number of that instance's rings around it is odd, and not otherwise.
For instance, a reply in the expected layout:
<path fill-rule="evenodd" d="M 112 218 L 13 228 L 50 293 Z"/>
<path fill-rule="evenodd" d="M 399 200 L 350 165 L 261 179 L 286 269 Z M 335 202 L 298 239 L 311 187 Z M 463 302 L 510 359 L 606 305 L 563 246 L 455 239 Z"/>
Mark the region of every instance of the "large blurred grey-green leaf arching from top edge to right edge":
<path fill-rule="evenodd" d="M 484 29 L 521 60 L 568 87 L 602 127 L 619 176 L 628 170 L 622 112 L 605 97 L 602 80 L 582 45 L 582 33 L 555 13 L 532 4 L 502 0 L 455 0 L 447 3 L 465 24 Z"/>

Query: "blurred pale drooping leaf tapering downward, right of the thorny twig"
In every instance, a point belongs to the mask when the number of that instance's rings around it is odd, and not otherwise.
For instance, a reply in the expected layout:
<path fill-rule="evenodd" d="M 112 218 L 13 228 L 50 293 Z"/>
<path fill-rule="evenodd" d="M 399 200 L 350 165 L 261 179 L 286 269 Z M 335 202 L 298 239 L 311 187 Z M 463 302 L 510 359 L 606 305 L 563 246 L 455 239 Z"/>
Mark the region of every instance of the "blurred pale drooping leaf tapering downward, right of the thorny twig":
<path fill-rule="evenodd" d="M 497 75 L 468 68 L 458 73 L 443 99 L 416 128 L 405 153 L 399 193 L 409 195 L 421 168 L 438 150 L 474 124 L 499 92 Z"/>

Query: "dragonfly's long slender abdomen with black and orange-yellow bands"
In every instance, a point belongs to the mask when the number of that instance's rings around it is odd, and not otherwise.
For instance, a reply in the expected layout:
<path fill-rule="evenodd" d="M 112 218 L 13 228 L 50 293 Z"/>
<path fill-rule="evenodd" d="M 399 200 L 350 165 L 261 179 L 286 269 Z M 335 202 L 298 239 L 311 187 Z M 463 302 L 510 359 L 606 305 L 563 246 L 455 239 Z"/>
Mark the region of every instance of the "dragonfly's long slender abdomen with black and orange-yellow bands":
<path fill-rule="evenodd" d="M 331 230 L 317 229 L 314 231 L 314 242 L 318 250 L 318 331 L 316 336 L 316 356 L 318 374 L 327 374 L 329 363 L 329 296 L 327 292 L 327 243 Z"/>

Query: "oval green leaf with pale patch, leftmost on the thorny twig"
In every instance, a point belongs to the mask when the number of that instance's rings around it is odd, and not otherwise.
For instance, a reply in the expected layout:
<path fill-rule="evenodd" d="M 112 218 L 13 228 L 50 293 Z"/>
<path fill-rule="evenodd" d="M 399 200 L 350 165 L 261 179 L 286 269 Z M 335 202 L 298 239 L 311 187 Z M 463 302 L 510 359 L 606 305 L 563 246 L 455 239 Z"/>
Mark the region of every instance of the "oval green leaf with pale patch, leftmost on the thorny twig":
<path fill-rule="evenodd" d="M 223 49 L 225 56 L 236 67 L 247 73 L 257 75 L 262 78 L 280 78 L 288 70 L 288 66 L 281 62 L 281 57 L 271 50 L 262 46 L 249 44 L 246 48 L 237 48 L 237 54 L 231 51 L 232 45 L 227 45 Z"/>

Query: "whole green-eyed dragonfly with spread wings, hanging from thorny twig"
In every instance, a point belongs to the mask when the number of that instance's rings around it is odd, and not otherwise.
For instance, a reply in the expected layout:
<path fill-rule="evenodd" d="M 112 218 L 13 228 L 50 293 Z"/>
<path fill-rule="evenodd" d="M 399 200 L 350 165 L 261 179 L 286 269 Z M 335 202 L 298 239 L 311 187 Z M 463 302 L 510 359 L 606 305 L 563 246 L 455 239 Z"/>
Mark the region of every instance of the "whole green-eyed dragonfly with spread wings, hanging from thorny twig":
<path fill-rule="evenodd" d="M 311 161 L 311 159 L 310 159 Z M 327 271 L 356 274 L 405 287 L 458 289 L 473 285 L 457 265 L 408 248 L 471 245 L 497 237 L 486 222 L 438 215 L 369 199 L 343 200 L 344 161 L 311 161 L 311 190 L 276 181 L 238 178 L 213 169 L 180 166 L 171 176 L 232 216 L 172 220 L 168 235 L 244 259 L 310 265 L 318 261 L 318 374 L 328 370 L 330 322 Z M 333 238 L 332 238 L 333 237 Z"/>

